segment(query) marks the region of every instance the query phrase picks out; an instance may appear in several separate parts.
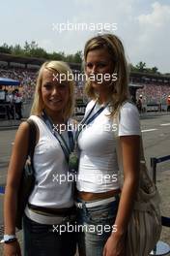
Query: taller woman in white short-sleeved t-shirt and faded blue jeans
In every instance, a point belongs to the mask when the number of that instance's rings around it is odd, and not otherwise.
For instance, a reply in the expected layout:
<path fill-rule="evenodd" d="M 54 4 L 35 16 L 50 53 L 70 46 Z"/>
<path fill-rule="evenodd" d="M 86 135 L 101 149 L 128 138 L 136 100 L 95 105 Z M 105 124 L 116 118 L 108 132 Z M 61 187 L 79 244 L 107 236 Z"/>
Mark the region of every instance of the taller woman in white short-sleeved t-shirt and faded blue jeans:
<path fill-rule="evenodd" d="M 125 238 L 138 185 L 140 124 L 128 102 L 128 68 L 120 39 L 90 39 L 84 49 L 85 90 L 91 101 L 77 133 L 80 149 L 78 224 L 81 256 L 125 256 Z M 115 121 L 117 118 L 117 121 Z M 118 126 L 117 126 L 118 122 Z M 115 129 L 120 138 L 124 184 L 121 190 Z"/>

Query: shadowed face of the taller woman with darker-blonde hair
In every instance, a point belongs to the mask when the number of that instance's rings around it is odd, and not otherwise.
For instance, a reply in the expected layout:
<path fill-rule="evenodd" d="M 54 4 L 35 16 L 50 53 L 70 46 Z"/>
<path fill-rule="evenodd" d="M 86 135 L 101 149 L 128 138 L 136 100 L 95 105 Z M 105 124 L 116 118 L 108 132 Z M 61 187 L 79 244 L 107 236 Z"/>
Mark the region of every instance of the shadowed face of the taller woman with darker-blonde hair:
<path fill-rule="evenodd" d="M 90 50 L 86 58 L 85 71 L 92 86 L 98 91 L 110 84 L 113 76 L 113 61 L 105 48 Z"/>

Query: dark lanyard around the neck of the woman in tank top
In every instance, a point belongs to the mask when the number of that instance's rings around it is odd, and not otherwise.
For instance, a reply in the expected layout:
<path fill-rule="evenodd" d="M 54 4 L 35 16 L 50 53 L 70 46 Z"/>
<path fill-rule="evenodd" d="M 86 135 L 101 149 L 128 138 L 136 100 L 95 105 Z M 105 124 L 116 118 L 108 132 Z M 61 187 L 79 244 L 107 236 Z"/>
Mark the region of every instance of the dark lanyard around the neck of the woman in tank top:
<path fill-rule="evenodd" d="M 65 157 L 67 159 L 67 162 L 69 162 L 69 157 L 70 157 L 70 154 L 73 151 L 73 147 L 74 147 L 73 134 L 72 134 L 71 129 L 70 129 L 71 125 L 69 123 L 66 124 L 69 128 L 69 129 L 67 129 L 68 137 L 69 137 L 69 145 L 68 145 L 66 143 L 65 139 L 63 138 L 62 134 L 59 133 L 55 129 L 55 125 L 52 123 L 51 118 L 44 111 L 42 111 L 42 119 L 43 119 L 44 123 L 46 124 L 46 126 L 48 127 L 48 129 L 50 130 L 50 132 L 55 136 L 55 138 L 57 139 L 57 141 L 61 145 L 61 147 L 63 149 L 63 152 L 65 154 Z"/>

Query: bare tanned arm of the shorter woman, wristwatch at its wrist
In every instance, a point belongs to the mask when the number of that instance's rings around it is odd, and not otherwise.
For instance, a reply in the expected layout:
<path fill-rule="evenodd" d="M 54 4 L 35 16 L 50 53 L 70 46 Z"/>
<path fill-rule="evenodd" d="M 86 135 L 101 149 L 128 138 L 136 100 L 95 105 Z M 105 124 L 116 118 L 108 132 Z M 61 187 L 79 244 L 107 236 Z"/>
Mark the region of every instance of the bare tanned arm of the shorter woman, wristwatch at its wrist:
<path fill-rule="evenodd" d="M 25 164 L 28 150 L 29 124 L 20 124 L 14 139 L 14 147 L 8 169 L 7 184 L 4 199 L 4 225 L 5 234 L 15 234 L 15 213 L 17 191 L 21 178 L 21 172 Z M 5 244 L 4 255 L 20 255 L 17 242 Z M 15 254 L 13 254 L 15 253 Z"/>

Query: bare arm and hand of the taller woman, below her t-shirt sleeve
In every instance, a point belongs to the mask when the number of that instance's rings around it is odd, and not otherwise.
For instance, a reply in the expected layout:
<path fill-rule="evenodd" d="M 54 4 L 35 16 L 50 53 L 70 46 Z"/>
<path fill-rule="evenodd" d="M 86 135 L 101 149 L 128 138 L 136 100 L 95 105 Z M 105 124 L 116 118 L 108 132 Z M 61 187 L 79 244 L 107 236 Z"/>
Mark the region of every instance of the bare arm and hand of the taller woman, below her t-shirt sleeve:
<path fill-rule="evenodd" d="M 104 247 L 104 256 L 123 256 L 125 236 L 128 228 L 133 200 L 139 178 L 140 136 L 121 136 L 120 146 L 123 156 L 124 185 L 114 225 L 117 232 L 112 233 Z"/>

